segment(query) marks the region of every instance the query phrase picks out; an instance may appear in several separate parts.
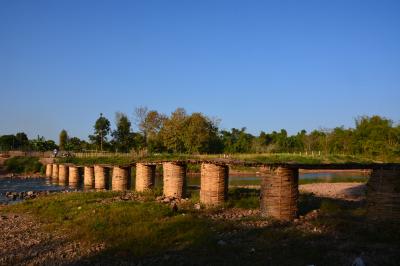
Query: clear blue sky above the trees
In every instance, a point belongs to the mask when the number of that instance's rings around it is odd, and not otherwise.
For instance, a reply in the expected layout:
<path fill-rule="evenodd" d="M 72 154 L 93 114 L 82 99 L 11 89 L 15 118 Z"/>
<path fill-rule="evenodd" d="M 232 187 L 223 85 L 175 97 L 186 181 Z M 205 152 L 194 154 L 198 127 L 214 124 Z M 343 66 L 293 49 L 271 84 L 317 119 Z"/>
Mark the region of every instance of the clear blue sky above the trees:
<path fill-rule="evenodd" d="M 0 1 L 0 135 L 176 107 L 258 134 L 400 120 L 400 1 Z"/>

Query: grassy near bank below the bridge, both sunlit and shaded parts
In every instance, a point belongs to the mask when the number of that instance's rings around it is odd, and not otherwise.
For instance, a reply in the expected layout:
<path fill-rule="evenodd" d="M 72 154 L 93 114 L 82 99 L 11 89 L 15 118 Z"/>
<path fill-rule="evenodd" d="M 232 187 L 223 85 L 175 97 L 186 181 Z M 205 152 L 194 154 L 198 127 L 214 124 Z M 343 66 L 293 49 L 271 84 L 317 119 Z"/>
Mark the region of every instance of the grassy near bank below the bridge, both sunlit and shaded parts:
<path fill-rule="evenodd" d="M 400 231 L 368 225 L 362 202 L 302 194 L 300 215 L 314 209 L 320 212 L 300 223 L 282 224 L 258 215 L 211 218 L 233 211 L 232 207 L 257 209 L 258 194 L 254 189 L 230 190 L 230 200 L 223 208 L 194 210 L 189 206 L 175 211 L 156 203 L 156 194 L 146 194 L 141 201 L 124 201 L 117 200 L 122 194 L 116 192 L 77 192 L 28 200 L 1 211 L 31 214 L 44 223 L 44 230 L 68 232 L 71 240 L 106 243 L 105 251 L 87 258 L 94 263 L 150 259 L 147 264 L 344 265 L 362 251 L 370 262 L 395 265 L 393 250 L 399 248 Z M 263 225 L 254 226 L 258 223 Z M 382 246 L 379 251 L 378 246 Z"/>

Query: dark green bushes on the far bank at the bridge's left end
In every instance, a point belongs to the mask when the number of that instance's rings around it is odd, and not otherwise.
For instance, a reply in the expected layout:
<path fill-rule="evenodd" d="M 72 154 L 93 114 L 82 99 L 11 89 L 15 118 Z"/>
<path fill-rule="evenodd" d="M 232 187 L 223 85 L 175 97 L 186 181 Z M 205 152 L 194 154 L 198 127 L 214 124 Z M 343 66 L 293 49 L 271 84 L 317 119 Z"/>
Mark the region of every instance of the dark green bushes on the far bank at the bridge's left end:
<path fill-rule="evenodd" d="M 4 162 L 7 172 L 17 174 L 33 174 L 43 172 L 43 164 L 38 157 L 16 156 Z"/>

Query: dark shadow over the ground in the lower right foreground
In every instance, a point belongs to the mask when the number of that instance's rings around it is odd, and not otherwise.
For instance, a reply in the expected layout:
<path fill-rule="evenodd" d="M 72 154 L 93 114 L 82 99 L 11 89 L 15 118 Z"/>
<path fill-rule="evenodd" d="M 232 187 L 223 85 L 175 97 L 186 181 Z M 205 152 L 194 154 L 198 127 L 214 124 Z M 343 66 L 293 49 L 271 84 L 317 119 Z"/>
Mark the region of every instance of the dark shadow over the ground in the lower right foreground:
<path fill-rule="evenodd" d="M 256 189 L 237 190 L 230 195 L 232 204 L 239 198 L 254 199 L 257 193 Z M 303 218 L 298 222 L 268 221 L 261 227 L 249 227 L 240 220 L 199 217 L 205 219 L 212 233 L 190 245 L 176 243 L 168 250 L 154 250 L 151 256 L 142 257 L 132 256 L 125 248 L 113 247 L 74 264 L 351 265 L 361 256 L 367 265 L 398 265 L 398 225 L 369 224 L 365 219 L 364 201 L 302 194 L 299 214 Z"/>

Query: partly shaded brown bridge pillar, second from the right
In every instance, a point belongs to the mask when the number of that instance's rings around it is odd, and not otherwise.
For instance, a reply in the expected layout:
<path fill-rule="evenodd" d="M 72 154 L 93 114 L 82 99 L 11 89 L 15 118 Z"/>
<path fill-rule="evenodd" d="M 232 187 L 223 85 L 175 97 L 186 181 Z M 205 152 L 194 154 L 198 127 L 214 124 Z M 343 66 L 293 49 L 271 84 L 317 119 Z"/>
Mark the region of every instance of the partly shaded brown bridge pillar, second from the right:
<path fill-rule="evenodd" d="M 277 167 L 261 183 L 261 215 L 282 221 L 297 216 L 299 169 Z"/>

